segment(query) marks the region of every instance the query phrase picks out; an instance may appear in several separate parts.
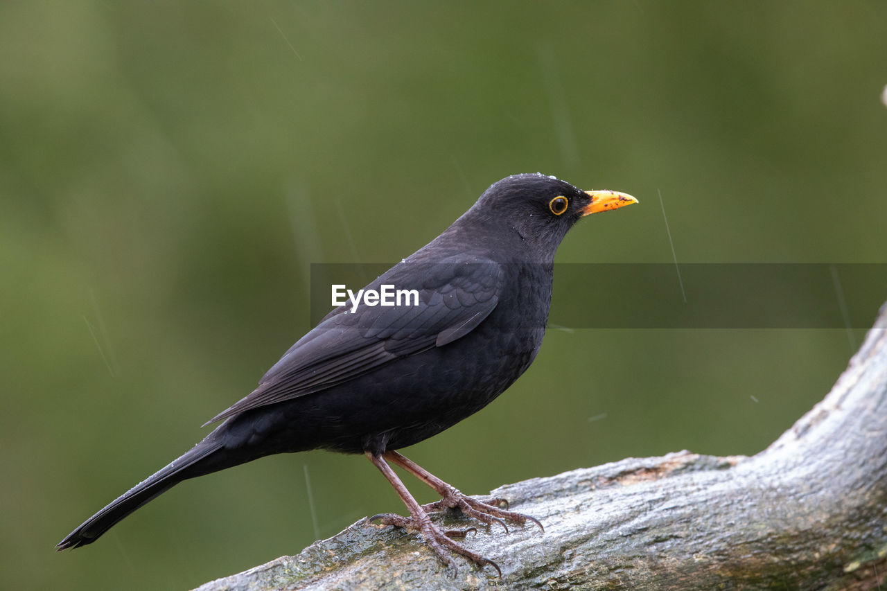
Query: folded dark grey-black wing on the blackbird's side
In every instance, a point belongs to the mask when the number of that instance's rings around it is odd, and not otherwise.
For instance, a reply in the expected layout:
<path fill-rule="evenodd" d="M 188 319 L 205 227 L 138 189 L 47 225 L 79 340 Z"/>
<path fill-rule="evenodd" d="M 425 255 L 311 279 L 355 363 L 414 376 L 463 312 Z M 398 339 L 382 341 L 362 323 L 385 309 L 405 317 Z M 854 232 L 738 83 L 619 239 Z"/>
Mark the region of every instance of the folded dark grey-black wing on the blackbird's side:
<path fill-rule="evenodd" d="M 417 305 L 336 308 L 264 374 L 258 388 L 209 422 L 325 390 L 395 359 L 452 343 L 490 315 L 502 279 L 502 265 L 489 260 L 397 264 L 365 289 L 416 289 Z"/>

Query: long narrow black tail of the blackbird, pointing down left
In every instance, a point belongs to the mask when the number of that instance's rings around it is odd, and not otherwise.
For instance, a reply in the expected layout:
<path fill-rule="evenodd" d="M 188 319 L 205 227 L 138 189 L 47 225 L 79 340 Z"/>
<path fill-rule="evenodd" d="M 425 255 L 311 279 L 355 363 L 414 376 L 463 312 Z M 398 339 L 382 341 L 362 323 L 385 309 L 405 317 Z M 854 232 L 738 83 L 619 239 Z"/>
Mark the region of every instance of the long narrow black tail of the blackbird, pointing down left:
<path fill-rule="evenodd" d="M 213 437 L 214 435 L 211 433 L 209 437 L 194 445 L 191 451 L 172 461 L 166 468 L 145 478 L 108 504 L 106 508 L 91 516 L 74 532 L 67 534 L 65 539 L 56 545 L 56 549 L 65 550 L 91 544 L 123 517 L 130 515 L 149 500 L 183 480 L 245 461 L 235 461 L 230 457 L 231 454 L 225 453 L 223 437 Z"/>

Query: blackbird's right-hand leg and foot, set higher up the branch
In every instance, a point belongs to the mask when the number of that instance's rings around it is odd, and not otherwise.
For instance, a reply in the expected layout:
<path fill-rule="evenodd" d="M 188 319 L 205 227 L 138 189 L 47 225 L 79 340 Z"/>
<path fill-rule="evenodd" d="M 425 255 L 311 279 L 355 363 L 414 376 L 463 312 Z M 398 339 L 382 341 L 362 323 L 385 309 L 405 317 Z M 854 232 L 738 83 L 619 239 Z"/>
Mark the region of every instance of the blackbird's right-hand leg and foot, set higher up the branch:
<path fill-rule="evenodd" d="M 505 499 L 488 499 L 487 502 L 472 499 L 466 494 L 460 493 L 458 489 L 446 484 L 443 480 L 428 472 L 427 469 L 422 468 L 419 464 L 400 453 L 386 452 L 383 457 L 405 469 L 414 477 L 419 478 L 426 485 L 433 488 L 437 494 L 443 497 L 441 500 L 429 503 L 428 505 L 423 505 L 422 508 L 427 512 L 433 513 L 447 508 L 459 508 L 459 510 L 465 515 L 474 517 L 475 519 L 482 521 L 484 524 L 501 524 L 506 532 L 508 531 L 508 527 L 505 524 L 506 521 L 513 524 L 525 524 L 528 521 L 531 521 L 534 524 L 537 524 L 539 529 L 545 532 L 545 528 L 542 527 L 542 524 L 540 524 L 535 517 L 497 507 L 497 505 L 500 505 L 503 502 L 507 503 Z"/>

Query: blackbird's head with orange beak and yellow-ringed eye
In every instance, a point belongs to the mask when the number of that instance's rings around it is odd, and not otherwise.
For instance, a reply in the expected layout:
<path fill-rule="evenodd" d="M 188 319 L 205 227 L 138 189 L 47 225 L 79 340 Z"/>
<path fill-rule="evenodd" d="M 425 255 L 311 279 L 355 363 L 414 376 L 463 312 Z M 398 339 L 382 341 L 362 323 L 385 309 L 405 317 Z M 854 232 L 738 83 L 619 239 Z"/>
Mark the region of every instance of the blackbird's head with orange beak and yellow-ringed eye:
<path fill-rule="evenodd" d="M 541 173 L 505 177 L 488 188 L 475 204 L 487 223 L 506 225 L 533 246 L 553 251 L 581 217 L 637 203 L 616 191 L 582 191 Z"/>

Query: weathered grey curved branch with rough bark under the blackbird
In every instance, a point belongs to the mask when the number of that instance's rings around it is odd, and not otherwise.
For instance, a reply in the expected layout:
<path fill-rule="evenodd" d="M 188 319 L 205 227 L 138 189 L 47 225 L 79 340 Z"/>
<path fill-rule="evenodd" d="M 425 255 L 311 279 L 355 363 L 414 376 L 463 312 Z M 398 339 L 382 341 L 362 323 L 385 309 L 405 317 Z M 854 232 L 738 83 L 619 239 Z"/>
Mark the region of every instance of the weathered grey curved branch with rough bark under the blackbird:
<path fill-rule="evenodd" d="M 200 591 L 484 587 L 887 591 L 887 304 L 828 396 L 765 451 L 669 453 L 505 485 L 545 524 L 467 548 L 453 572 L 418 534 L 365 520 Z M 453 526 L 459 516 L 443 516 Z"/>

